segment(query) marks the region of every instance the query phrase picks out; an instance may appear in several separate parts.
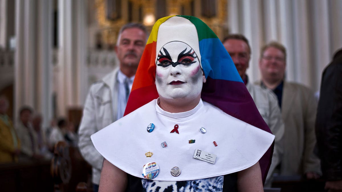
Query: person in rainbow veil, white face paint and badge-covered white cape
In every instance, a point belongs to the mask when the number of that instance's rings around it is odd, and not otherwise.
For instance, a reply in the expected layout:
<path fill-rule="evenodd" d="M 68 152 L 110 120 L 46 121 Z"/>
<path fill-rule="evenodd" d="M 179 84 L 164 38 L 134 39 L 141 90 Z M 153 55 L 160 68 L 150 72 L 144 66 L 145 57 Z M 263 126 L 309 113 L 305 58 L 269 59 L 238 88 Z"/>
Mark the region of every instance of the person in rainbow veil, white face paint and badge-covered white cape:
<path fill-rule="evenodd" d="M 200 19 L 155 23 L 125 114 L 91 136 L 100 191 L 263 191 L 274 135 Z"/>

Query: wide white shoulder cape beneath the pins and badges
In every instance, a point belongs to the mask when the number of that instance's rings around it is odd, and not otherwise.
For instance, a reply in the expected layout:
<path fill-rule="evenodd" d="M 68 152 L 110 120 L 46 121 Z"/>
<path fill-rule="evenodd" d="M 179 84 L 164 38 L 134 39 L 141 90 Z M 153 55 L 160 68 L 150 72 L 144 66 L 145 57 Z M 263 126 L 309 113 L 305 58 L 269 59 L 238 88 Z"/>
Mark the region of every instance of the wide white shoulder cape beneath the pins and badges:
<path fill-rule="evenodd" d="M 135 177 L 144 178 L 145 164 L 156 163 L 153 180 L 184 181 L 231 174 L 251 167 L 272 145 L 274 135 L 238 120 L 207 102 L 195 116 L 173 119 L 157 114 L 156 99 L 91 136 L 98 152 L 110 163 Z M 149 133 L 147 126 L 155 129 Z M 174 125 L 177 133 L 170 133 Z M 202 134 L 199 128 L 205 127 Z M 190 143 L 189 140 L 195 140 Z M 213 141 L 217 143 L 214 145 Z M 166 142 L 167 147 L 161 143 Z M 195 150 L 216 155 L 215 163 L 194 158 Z M 152 152 L 152 157 L 145 153 Z M 173 167 L 181 174 L 171 175 Z"/>

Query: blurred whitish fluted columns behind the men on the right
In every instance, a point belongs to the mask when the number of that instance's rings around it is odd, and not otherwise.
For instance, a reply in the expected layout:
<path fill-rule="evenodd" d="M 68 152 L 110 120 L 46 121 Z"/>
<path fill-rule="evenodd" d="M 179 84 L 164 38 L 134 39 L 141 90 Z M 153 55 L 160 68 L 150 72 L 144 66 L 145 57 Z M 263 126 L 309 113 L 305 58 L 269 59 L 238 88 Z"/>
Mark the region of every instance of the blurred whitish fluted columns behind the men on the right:
<path fill-rule="evenodd" d="M 250 41 L 252 81 L 260 79 L 260 46 L 287 49 L 286 79 L 319 89 L 321 73 L 342 44 L 341 0 L 228 0 L 230 31 Z"/>

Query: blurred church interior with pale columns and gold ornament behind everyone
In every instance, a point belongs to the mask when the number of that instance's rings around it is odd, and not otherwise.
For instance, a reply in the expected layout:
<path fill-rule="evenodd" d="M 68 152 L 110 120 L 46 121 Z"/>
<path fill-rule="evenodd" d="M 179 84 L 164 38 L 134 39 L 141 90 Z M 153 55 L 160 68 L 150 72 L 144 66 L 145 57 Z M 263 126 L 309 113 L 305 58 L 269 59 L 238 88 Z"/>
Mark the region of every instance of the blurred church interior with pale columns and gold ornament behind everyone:
<path fill-rule="evenodd" d="M 286 78 L 319 91 L 321 73 L 342 47 L 341 0 L 0 0 L 0 95 L 31 106 L 43 126 L 67 117 L 78 124 L 90 85 L 118 66 L 120 27 L 152 29 L 168 15 L 193 15 L 222 38 L 250 41 L 251 81 L 260 78 L 260 47 L 271 40 L 288 51 Z"/>

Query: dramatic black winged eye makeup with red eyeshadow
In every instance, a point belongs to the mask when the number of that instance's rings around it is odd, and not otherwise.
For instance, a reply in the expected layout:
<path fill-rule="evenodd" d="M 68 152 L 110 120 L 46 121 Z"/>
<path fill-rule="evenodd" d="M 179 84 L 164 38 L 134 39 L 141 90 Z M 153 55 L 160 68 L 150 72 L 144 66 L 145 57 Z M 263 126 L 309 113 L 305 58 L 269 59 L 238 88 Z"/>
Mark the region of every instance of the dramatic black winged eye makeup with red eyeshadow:
<path fill-rule="evenodd" d="M 165 49 L 165 47 L 163 47 L 162 49 L 165 52 L 165 55 L 161 51 L 159 51 L 158 58 L 157 58 L 159 62 L 159 64 L 157 64 L 158 66 L 168 67 L 169 65 L 172 65 L 172 67 L 176 67 L 177 65 L 180 65 L 180 64 L 184 66 L 190 66 L 191 64 L 197 62 L 197 61 L 194 61 L 194 59 L 197 58 L 197 56 L 195 56 L 195 51 L 193 51 L 192 49 L 186 52 L 187 48 L 185 48 L 178 55 L 177 62 L 172 62 L 171 56 L 169 52 Z"/>

